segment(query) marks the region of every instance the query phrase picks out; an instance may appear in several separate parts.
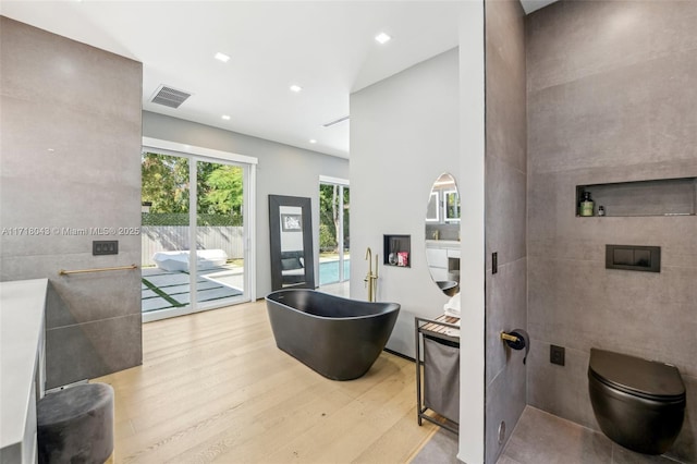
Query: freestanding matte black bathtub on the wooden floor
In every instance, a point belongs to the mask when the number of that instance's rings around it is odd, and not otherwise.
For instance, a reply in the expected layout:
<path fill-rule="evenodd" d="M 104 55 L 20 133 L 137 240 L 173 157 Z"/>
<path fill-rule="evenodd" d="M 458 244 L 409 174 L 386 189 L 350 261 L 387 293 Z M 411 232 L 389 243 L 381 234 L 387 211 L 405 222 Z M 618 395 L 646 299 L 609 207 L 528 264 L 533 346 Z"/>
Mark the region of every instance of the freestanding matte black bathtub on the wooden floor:
<path fill-rule="evenodd" d="M 368 303 L 299 289 L 269 293 L 266 307 L 276 345 L 332 380 L 366 374 L 400 313 L 398 303 Z"/>

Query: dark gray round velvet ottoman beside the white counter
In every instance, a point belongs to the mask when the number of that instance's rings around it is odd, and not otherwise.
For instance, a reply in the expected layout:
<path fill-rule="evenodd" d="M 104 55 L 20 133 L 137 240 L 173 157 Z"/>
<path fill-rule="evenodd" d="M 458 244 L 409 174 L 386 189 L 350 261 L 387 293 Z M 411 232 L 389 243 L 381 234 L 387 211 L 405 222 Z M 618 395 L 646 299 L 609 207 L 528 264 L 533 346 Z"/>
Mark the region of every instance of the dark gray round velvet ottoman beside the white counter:
<path fill-rule="evenodd" d="M 84 383 L 38 401 L 38 462 L 102 464 L 113 452 L 113 389 Z"/>

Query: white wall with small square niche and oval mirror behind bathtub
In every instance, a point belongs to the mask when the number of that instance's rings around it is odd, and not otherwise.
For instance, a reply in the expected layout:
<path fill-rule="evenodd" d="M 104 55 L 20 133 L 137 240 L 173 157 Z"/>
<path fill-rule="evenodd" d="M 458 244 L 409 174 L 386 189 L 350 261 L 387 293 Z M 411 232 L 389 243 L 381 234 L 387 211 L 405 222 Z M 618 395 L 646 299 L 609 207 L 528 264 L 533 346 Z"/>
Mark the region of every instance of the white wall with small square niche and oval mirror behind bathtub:
<path fill-rule="evenodd" d="M 377 300 L 402 305 L 388 347 L 411 357 L 414 316 L 436 317 L 448 301 L 430 277 L 424 229 L 433 182 L 457 178 L 458 111 L 457 49 L 351 96 L 351 297 L 367 298 L 369 246 L 380 255 Z M 382 265 L 383 234 L 411 235 L 411 268 Z"/>

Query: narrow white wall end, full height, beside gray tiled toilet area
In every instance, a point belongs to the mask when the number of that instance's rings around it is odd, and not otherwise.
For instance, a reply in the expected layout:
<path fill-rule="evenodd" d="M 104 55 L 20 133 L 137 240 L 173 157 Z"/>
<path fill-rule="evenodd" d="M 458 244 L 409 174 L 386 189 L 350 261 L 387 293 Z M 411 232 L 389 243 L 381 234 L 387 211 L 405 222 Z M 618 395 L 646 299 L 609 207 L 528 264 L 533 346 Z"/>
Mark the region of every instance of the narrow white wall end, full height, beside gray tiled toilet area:
<path fill-rule="evenodd" d="M 485 462 L 485 13 L 463 2 L 460 22 L 460 194 L 462 295 L 460 452 Z"/>

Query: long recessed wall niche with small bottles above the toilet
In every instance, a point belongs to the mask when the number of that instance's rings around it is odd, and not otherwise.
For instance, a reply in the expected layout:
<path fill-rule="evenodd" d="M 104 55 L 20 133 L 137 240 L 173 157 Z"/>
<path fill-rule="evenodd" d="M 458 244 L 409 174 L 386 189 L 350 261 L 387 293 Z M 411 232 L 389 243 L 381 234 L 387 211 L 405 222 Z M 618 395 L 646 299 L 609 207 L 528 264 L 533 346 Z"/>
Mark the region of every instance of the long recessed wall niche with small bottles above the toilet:
<path fill-rule="evenodd" d="M 584 194 L 594 202 L 592 216 L 695 216 L 697 178 L 576 185 L 576 216 Z M 602 207 L 603 213 L 599 215 Z"/>

